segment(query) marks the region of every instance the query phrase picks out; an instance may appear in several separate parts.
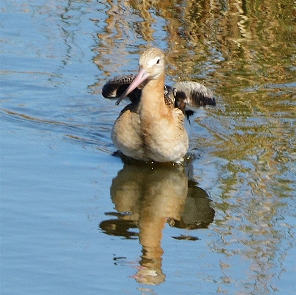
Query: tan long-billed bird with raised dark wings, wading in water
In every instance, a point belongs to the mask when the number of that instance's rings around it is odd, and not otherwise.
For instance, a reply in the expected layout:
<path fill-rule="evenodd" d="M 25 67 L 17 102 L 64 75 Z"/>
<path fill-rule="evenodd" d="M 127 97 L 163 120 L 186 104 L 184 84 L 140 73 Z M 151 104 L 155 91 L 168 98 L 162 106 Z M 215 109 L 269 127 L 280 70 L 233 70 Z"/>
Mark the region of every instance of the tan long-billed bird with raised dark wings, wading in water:
<path fill-rule="evenodd" d="M 188 150 L 186 109 L 216 105 L 210 89 L 193 81 L 165 85 L 165 54 L 149 48 L 140 56 L 137 75 L 120 75 L 103 86 L 104 98 L 125 106 L 116 119 L 111 139 L 125 156 L 145 162 L 182 164 Z"/>

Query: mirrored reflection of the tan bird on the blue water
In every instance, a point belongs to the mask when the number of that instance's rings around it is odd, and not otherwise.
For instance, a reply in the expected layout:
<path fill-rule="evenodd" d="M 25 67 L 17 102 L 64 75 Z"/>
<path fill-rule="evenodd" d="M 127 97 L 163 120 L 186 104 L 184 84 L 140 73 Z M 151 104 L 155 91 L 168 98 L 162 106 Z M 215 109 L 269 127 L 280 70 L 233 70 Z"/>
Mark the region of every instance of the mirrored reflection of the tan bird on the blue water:
<path fill-rule="evenodd" d="M 165 280 L 161 238 L 166 222 L 183 229 L 206 228 L 215 214 L 206 192 L 188 181 L 183 167 L 126 163 L 112 181 L 111 198 L 117 213 L 106 214 L 117 218 L 101 222 L 100 228 L 110 235 L 139 237 L 142 259 L 134 277 L 148 285 Z"/>

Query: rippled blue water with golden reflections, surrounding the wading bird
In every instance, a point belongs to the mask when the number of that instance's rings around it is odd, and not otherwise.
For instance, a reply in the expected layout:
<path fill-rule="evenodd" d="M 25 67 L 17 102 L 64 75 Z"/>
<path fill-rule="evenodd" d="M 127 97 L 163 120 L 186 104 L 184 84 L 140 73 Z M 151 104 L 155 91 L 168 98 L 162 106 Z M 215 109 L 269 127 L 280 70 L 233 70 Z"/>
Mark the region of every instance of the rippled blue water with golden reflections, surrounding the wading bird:
<path fill-rule="evenodd" d="M 295 294 L 295 3 L 0 5 L 1 294 Z M 217 98 L 185 169 L 112 156 L 147 46 Z"/>

